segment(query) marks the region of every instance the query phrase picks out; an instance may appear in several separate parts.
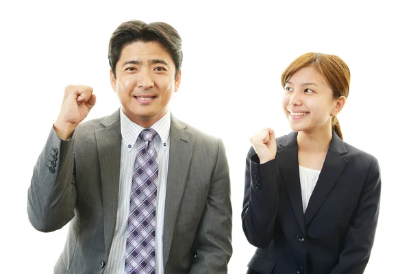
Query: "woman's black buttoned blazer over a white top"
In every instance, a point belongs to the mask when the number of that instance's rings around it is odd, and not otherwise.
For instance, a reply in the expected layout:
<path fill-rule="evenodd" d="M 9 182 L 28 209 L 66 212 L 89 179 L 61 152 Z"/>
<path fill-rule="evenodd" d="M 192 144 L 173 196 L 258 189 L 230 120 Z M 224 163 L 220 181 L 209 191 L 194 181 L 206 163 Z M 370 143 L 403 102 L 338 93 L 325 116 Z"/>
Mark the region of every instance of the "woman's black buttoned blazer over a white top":
<path fill-rule="evenodd" d="M 277 156 L 247 155 L 242 229 L 258 247 L 247 273 L 363 273 L 373 246 L 381 178 L 377 159 L 335 132 L 306 213 L 297 133 L 277 138 Z"/>

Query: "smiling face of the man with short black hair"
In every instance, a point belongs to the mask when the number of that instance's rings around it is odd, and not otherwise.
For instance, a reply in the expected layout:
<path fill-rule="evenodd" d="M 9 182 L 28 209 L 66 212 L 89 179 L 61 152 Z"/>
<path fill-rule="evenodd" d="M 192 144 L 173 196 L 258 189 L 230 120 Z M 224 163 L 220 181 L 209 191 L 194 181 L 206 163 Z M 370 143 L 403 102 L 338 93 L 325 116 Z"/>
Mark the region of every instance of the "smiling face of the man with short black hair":
<path fill-rule="evenodd" d="M 158 42 L 133 42 L 121 51 L 116 77 L 110 71 L 112 88 L 123 112 L 134 123 L 150 127 L 166 114 L 173 92 L 179 87 L 171 55 Z"/>

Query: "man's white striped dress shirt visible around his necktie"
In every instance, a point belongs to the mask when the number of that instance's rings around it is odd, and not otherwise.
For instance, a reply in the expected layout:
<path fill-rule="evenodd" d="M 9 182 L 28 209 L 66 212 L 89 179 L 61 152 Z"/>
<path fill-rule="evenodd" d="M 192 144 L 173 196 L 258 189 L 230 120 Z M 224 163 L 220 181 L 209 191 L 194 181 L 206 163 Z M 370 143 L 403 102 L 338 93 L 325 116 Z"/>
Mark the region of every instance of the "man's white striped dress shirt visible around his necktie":
<path fill-rule="evenodd" d="M 125 245 L 127 240 L 127 221 L 130 211 L 130 194 L 132 192 L 132 177 L 134 160 L 138 149 L 143 142 L 138 138 L 144 127 L 133 123 L 123 111 L 120 112 L 121 121 L 121 164 L 119 184 L 119 206 L 117 208 L 116 229 L 110 254 L 108 256 L 105 273 L 124 273 L 125 269 Z M 155 136 L 152 144 L 158 154 L 158 188 L 155 225 L 155 273 L 163 274 L 163 227 L 164 206 L 166 203 L 166 179 L 169 166 L 171 114 L 167 112 L 162 119 L 151 125 L 158 136 Z"/>

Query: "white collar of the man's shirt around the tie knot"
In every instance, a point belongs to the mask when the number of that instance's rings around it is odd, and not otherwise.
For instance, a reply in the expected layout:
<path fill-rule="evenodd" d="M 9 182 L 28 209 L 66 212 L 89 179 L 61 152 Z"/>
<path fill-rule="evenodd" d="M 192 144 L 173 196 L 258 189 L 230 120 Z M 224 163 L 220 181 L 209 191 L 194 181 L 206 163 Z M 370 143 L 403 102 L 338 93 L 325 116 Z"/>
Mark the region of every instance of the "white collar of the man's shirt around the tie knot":
<path fill-rule="evenodd" d="M 131 121 L 127 115 L 124 114 L 123 109 L 120 110 L 120 123 L 121 123 L 121 138 L 125 141 L 127 148 L 131 150 L 136 144 L 137 138 L 145 129 L 141 125 L 138 125 Z M 164 116 L 157 122 L 151 125 L 151 128 L 158 133 L 162 144 L 167 145 L 170 136 L 170 126 L 171 126 L 171 114 L 167 111 Z M 155 138 L 158 138 L 155 136 Z"/>

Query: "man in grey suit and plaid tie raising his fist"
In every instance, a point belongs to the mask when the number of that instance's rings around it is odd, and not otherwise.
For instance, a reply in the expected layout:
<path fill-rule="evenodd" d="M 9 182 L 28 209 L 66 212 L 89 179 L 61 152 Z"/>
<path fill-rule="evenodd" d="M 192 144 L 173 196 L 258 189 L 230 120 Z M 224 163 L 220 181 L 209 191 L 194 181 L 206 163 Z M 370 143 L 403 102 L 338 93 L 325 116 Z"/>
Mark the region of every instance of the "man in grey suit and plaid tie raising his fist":
<path fill-rule="evenodd" d="M 229 169 L 221 140 L 175 119 L 181 38 L 166 23 L 122 23 L 108 53 L 121 109 L 80 123 L 89 86 L 67 86 L 34 168 L 27 212 L 70 222 L 55 273 L 227 273 Z"/>

